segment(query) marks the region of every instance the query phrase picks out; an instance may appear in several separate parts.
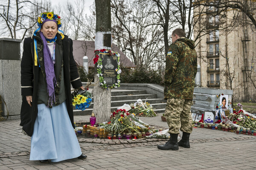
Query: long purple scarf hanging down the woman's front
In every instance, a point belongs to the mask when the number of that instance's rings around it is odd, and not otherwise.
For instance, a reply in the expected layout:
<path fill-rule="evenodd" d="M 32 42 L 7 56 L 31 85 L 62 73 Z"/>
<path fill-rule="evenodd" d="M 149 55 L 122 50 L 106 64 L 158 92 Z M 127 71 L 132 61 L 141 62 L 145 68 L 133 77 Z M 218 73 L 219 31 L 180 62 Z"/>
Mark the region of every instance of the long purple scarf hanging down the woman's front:
<path fill-rule="evenodd" d="M 49 102 L 47 107 L 49 107 L 49 106 L 52 106 L 53 101 L 55 101 L 54 86 L 56 86 L 57 83 L 56 83 L 54 64 L 52 62 L 51 52 L 47 45 L 44 34 L 41 31 L 40 31 L 40 36 L 44 43 L 44 70 L 45 70 L 45 76 L 46 76 L 47 91 L 49 95 Z"/>

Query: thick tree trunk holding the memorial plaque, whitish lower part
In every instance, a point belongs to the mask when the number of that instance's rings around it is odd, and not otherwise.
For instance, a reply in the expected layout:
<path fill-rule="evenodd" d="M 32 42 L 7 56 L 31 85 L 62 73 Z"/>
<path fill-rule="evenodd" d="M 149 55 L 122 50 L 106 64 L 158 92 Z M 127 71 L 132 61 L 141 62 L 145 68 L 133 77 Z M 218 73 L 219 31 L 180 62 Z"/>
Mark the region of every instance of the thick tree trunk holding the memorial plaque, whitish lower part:
<path fill-rule="evenodd" d="M 111 32 L 111 0 L 95 0 L 96 6 L 96 33 L 97 32 Z M 103 36 L 103 45 L 107 46 L 107 49 L 111 49 L 111 36 Z M 95 41 L 97 40 L 95 37 Z M 98 50 L 98 49 L 96 49 Z M 99 51 L 95 52 L 95 55 L 99 55 Z M 95 64 L 95 77 L 94 81 L 98 82 L 97 76 L 97 63 Z M 100 83 L 97 83 L 93 87 L 93 112 L 96 116 L 96 120 L 99 123 L 108 121 L 111 114 L 111 89 L 103 89 Z"/>

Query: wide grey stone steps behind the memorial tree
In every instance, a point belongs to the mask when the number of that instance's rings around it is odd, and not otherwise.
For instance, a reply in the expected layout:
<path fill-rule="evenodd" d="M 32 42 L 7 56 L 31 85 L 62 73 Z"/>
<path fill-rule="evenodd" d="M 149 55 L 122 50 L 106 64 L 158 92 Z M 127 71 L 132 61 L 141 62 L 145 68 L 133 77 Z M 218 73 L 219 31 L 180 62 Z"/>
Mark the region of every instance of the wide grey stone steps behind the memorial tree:
<path fill-rule="evenodd" d="M 138 99 L 150 103 L 154 111 L 163 113 L 166 107 L 166 100 L 157 98 L 157 95 L 147 94 L 145 90 L 115 90 L 111 91 L 111 111 L 116 110 L 124 104 L 135 103 Z M 93 111 L 93 101 L 90 107 L 81 111 L 73 107 L 74 115 L 90 115 Z"/>

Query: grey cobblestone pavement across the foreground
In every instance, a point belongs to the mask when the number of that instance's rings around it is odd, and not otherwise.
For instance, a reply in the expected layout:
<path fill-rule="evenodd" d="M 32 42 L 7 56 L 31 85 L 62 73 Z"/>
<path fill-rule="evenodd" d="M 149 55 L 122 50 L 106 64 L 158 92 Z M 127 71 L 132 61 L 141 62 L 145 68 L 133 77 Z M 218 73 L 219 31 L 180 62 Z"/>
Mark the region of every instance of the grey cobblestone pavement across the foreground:
<path fill-rule="evenodd" d="M 90 116 L 75 116 L 75 121 L 88 122 Z M 141 120 L 155 127 L 168 128 L 160 115 Z M 0 122 L 0 170 L 194 170 L 256 169 L 256 136 L 237 135 L 220 130 L 194 128 L 191 148 L 177 151 L 159 150 L 166 140 L 143 140 L 134 143 L 97 139 L 80 141 L 88 157 L 41 164 L 29 161 L 30 137 L 21 133 L 19 120 Z M 60 126 L 61 128 L 61 126 Z M 102 141 L 105 141 L 102 143 Z M 124 140 L 121 140 L 124 141 Z"/>

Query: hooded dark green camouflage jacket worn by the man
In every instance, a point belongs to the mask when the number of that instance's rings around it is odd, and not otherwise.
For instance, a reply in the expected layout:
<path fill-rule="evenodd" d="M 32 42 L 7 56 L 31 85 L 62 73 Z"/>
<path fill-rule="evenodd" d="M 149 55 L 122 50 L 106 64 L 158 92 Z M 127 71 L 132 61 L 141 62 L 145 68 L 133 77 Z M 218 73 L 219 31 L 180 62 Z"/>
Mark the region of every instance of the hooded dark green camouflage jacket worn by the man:
<path fill-rule="evenodd" d="M 164 98 L 193 99 L 197 55 L 193 40 L 180 38 L 169 46 L 164 75 Z"/>

